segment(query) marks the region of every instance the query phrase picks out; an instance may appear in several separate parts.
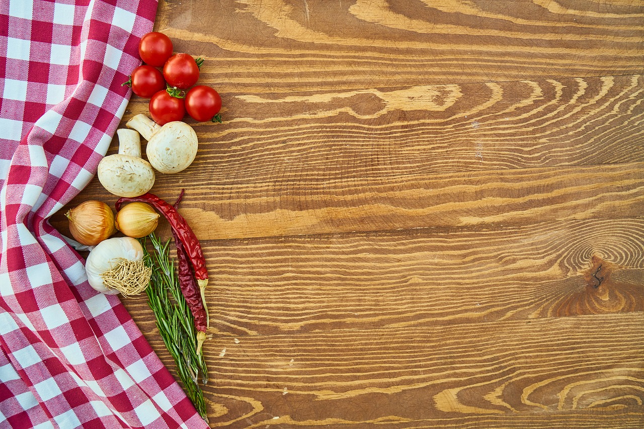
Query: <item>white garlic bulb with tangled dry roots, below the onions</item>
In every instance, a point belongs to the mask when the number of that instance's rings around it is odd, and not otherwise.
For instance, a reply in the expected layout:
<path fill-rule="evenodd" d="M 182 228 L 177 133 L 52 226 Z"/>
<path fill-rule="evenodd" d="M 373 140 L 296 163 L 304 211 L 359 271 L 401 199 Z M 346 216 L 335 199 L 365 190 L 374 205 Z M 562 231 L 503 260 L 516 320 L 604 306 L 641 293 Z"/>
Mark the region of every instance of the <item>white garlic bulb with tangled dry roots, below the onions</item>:
<path fill-rule="evenodd" d="M 100 242 L 87 257 L 85 271 L 91 287 L 108 295 L 140 294 L 152 275 L 152 270 L 143 262 L 141 243 L 131 237 Z"/>

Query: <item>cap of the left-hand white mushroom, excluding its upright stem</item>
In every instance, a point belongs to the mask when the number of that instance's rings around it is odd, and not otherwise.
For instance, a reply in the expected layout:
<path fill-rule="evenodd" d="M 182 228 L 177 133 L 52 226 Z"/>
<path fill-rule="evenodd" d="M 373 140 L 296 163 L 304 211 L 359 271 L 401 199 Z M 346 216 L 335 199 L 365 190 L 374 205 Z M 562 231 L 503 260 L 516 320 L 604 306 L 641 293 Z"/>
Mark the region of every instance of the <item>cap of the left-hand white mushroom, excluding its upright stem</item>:
<path fill-rule="evenodd" d="M 109 155 L 99 162 L 99 182 L 117 196 L 143 195 L 155 184 L 149 162 L 130 155 Z"/>

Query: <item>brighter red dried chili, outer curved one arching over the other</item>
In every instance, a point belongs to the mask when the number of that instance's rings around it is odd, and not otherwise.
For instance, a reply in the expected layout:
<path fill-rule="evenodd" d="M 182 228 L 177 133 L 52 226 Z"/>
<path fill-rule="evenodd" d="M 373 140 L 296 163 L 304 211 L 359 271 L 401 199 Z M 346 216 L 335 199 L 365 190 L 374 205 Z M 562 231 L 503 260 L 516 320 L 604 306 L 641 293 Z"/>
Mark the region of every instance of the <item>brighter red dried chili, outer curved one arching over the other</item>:
<path fill-rule="evenodd" d="M 194 270 L 194 278 L 196 278 L 197 285 L 200 291 L 201 303 L 205 311 L 205 325 L 206 327 L 208 327 L 208 308 L 205 305 L 205 287 L 208 284 L 208 271 L 205 267 L 205 258 L 204 253 L 202 252 L 201 245 L 199 243 L 199 240 L 194 235 L 190 225 L 188 225 L 188 223 L 184 219 L 184 216 L 181 216 L 181 214 L 176 211 L 176 208 L 173 205 L 168 204 L 166 201 L 162 200 L 162 198 L 159 198 L 154 194 L 146 193 L 141 196 L 119 198 L 117 203 L 115 204 L 117 211 L 120 210 L 120 206 L 126 202 L 146 202 L 152 205 L 153 207 L 155 207 L 155 209 L 157 209 L 161 214 L 165 216 L 165 218 L 171 225 L 173 235 L 176 234 L 175 239 L 178 238 L 176 242 L 182 243 L 184 254 L 190 261 L 190 265 L 192 265 L 192 268 Z M 175 204 L 178 204 L 178 201 Z M 182 287 L 182 291 L 183 289 L 184 288 Z M 202 332 L 205 338 L 205 332 L 202 330 L 199 330 L 199 332 Z M 200 334 L 198 333 L 198 336 L 199 335 Z"/>

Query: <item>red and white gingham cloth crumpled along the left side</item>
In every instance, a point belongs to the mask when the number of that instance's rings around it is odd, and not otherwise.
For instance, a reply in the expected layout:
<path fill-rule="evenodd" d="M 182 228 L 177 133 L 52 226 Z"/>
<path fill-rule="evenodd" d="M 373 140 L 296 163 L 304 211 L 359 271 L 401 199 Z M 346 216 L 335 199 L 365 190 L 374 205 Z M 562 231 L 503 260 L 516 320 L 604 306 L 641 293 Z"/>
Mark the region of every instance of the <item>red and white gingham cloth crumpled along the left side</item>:
<path fill-rule="evenodd" d="M 48 218 L 128 104 L 156 0 L 0 0 L 0 428 L 207 428 Z"/>

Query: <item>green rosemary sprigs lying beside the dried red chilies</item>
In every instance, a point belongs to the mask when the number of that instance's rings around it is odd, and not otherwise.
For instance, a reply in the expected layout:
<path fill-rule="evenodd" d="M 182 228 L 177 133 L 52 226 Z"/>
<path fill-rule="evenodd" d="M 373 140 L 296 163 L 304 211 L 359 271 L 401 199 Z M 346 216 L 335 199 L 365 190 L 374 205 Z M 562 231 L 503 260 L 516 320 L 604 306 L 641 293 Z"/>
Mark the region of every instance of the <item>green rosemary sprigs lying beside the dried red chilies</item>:
<path fill-rule="evenodd" d="M 156 327 L 167 350 L 175 359 L 176 372 L 184 384 L 185 394 L 190 398 L 197 412 L 207 419 L 204 392 L 198 383 L 202 375 L 204 385 L 208 381 L 208 370 L 203 352 L 196 353 L 196 329 L 193 316 L 181 293 L 175 260 L 170 258 L 170 240 L 162 243 L 155 234 L 148 236 L 152 249 L 148 250 L 145 241 L 144 261 L 152 269 L 150 284 L 146 289 L 149 307 L 156 317 Z"/>

